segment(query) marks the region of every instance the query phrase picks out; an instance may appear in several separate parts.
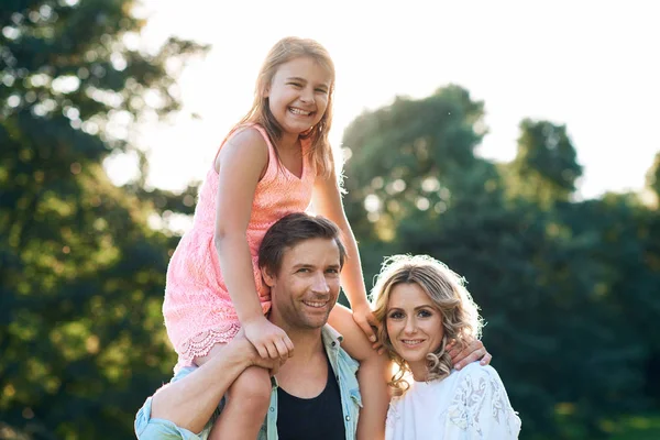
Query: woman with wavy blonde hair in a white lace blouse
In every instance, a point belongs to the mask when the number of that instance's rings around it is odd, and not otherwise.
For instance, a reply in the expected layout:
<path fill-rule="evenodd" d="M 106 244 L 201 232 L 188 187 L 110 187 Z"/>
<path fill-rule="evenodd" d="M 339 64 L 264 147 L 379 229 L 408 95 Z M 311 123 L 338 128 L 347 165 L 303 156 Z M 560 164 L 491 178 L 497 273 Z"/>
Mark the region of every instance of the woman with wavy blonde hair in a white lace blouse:
<path fill-rule="evenodd" d="M 497 372 L 451 369 L 448 343 L 479 338 L 482 320 L 464 279 L 430 256 L 388 258 L 374 286 L 374 315 L 396 373 L 387 440 L 517 439 L 520 419 Z"/>

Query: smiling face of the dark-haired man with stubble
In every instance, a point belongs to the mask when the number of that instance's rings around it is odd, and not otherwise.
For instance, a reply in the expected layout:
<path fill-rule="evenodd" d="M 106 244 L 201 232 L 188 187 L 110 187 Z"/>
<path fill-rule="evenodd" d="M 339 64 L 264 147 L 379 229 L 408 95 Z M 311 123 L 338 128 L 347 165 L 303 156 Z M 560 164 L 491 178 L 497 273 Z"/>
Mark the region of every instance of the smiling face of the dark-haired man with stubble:
<path fill-rule="evenodd" d="M 279 273 L 262 270 L 271 286 L 271 320 L 279 327 L 318 329 L 337 302 L 340 274 L 334 240 L 310 239 L 284 252 Z"/>

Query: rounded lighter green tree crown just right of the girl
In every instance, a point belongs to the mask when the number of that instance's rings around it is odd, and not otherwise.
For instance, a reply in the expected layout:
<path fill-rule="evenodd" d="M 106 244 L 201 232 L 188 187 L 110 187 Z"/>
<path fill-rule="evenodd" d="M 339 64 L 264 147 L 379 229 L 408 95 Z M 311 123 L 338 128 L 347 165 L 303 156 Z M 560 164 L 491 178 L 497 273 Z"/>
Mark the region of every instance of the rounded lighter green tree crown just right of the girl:
<path fill-rule="evenodd" d="M 397 98 L 392 106 L 359 117 L 346 129 L 348 215 L 361 240 L 393 239 L 411 210 L 442 212 L 459 172 L 477 160 L 483 105 L 459 86 L 427 99 Z"/>

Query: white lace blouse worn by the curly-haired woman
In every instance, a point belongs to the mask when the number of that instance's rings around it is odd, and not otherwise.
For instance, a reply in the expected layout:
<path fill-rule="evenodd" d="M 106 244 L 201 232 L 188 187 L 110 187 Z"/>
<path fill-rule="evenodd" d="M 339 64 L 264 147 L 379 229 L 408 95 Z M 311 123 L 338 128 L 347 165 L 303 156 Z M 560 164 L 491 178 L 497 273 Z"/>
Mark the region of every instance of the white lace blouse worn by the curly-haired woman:
<path fill-rule="evenodd" d="M 442 381 L 410 382 L 387 413 L 386 440 L 509 440 L 520 432 L 499 375 L 479 362 Z"/>

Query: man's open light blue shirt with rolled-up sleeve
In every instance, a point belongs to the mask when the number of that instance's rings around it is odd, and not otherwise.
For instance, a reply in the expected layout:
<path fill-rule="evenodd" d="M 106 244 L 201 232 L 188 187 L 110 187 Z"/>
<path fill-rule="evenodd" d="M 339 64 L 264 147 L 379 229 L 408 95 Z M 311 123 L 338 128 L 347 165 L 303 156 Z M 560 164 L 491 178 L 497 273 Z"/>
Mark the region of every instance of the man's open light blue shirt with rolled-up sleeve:
<path fill-rule="evenodd" d="M 323 326 L 321 329 L 321 338 L 323 346 L 328 354 L 328 360 L 332 366 L 332 373 L 339 384 L 341 394 L 341 407 L 343 413 L 344 428 L 346 440 L 355 440 L 355 431 L 358 429 L 358 416 L 362 407 L 362 398 L 358 386 L 355 373 L 360 364 L 341 349 L 342 341 L 339 334 L 330 326 Z M 196 367 L 182 369 L 172 378 L 172 382 L 180 381 L 188 374 L 193 373 Z M 330 372 L 329 372 L 330 373 Z M 271 406 L 266 419 L 258 432 L 257 440 L 277 440 L 277 381 L 273 378 L 273 389 L 271 392 Z M 179 428 L 169 420 L 151 418 L 152 397 L 148 397 L 142 408 L 135 416 L 135 433 L 141 440 L 165 439 L 165 440 L 206 440 L 209 437 L 213 421 L 222 410 L 222 404 L 216 411 L 211 420 L 207 424 L 204 430 L 199 433 L 193 433 L 187 429 Z"/>

